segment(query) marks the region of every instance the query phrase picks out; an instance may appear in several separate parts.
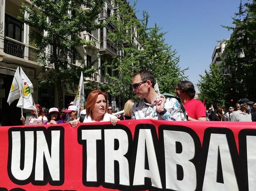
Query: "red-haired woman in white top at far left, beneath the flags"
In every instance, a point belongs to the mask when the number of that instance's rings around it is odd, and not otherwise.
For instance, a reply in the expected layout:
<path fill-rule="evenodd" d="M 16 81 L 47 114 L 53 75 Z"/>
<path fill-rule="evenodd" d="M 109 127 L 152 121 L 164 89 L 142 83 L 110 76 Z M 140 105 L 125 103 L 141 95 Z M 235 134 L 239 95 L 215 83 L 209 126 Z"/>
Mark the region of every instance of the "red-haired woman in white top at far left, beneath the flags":
<path fill-rule="evenodd" d="M 45 122 L 48 121 L 47 117 L 45 116 L 45 113 L 43 112 L 43 107 L 39 104 L 35 104 L 35 108 L 36 110 L 31 110 L 32 116 L 29 118 L 27 124 L 25 124 L 24 116 L 21 116 L 20 120 L 24 126 L 43 125 Z"/>

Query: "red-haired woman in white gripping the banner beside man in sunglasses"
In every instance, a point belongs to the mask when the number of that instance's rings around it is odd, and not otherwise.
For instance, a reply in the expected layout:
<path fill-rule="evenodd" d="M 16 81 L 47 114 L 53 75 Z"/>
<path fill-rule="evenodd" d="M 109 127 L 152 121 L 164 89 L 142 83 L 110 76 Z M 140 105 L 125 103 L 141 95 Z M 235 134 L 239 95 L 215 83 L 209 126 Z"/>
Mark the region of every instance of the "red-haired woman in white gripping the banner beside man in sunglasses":
<path fill-rule="evenodd" d="M 86 100 L 86 116 L 83 120 L 84 123 L 87 122 L 103 122 L 110 121 L 114 126 L 117 124 L 116 116 L 107 113 L 107 96 L 103 91 L 94 90 L 89 93 Z M 72 127 L 76 127 L 78 120 L 69 122 Z"/>

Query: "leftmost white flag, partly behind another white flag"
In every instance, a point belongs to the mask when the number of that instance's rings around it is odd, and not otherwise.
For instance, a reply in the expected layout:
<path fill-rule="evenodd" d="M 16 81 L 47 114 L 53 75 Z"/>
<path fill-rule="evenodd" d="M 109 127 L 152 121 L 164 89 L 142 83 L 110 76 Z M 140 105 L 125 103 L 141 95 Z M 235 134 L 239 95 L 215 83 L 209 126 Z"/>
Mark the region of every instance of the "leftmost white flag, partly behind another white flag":
<path fill-rule="evenodd" d="M 16 72 L 13 77 L 13 82 L 11 83 L 11 89 L 8 95 L 7 103 L 11 105 L 11 103 L 14 100 L 17 100 L 20 98 L 20 72 L 19 72 L 19 67 L 17 67 Z"/>

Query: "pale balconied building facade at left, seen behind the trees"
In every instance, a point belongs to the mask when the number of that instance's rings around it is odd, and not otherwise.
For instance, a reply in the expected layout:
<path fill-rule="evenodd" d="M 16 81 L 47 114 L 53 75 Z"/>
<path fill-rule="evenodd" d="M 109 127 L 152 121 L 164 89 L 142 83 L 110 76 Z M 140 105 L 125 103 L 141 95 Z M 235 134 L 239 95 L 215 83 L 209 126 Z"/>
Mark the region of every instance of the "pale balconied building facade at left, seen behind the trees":
<path fill-rule="evenodd" d="M 33 83 L 34 93 L 32 95 L 35 103 L 41 104 L 46 109 L 58 107 L 56 87 L 38 87 L 38 83 L 47 78 L 50 68 L 46 72 L 42 71 L 41 66 L 36 62 L 37 49 L 33 42 L 29 41 L 31 28 L 17 19 L 22 2 L 31 4 L 30 0 L 1 0 L 0 2 L 0 108 L 2 109 L 3 126 L 20 124 L 21 110 L 16 107 L 18 100 L 14 101 L 11 106 L 7 104 L 13 75 L 18 66 L 22 67 Z M 81 8 L 85 11 L 90 11 L 89 7 Z M 106 20 L 117 9 L 118 4 L 113 5 L 111 0 L 104 0 L 104 8 L 100 12 L 98 19 L 94 22 Z M 113 56 L 122 55 L 122 52 L 117 50 L 115 45 L 107 38 L 109 31 L 113 30 L 114 26 L 108 24 L 101 29 L 83 31 L 80 34 L 81 38 L 85 40 L 95 40 L 97 42 L 79 47 L 80 54 L 84 57 L 85 63 L 91 64 L 91 62 L 94 62 L 93 67 L 98 69 L 91 78 L 85 78 L 85 83 L 90 83 L 92 87 L 91 89 L 85 89 L 85 95 L 88 95 L 93 89 L 99 89 L 101 84 L 108 83 L 108 80 L 105 78 L 106 73 L 110 76 L 114 75 L 110 69 L 100 69 L 102 63 L 111 63 Z M 135 33 L 135 35 L 137 34 Z M 141 49 L 136 36 L 132 38 L 134 38 L 138 49 Z M 51 51 L 46 49 L 46 53 L 51 53 Z M 69 62 L 78 67 L 81 65 L 79 60 L 72 60 L 70 58 Z M 74 100 L 75 95 L 76 92 L 63 92 L 64 106 L 67 106 L 68 103 Z M 108 94 L 108 104 L 115 111 L 119 111 L 120 106 L 117 104 L 115 96 Z M 24 110 L 24 115 L 30 115 L 30 111 Z"/>

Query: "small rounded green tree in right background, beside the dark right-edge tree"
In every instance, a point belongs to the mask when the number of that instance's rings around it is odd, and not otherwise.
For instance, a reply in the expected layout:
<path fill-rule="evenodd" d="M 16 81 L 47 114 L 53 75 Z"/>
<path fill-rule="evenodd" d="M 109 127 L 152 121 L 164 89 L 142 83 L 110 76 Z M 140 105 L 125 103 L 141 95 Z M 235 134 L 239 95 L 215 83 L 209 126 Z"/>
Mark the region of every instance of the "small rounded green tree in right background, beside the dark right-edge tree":
<path fill-rule="evenodd" d="M 199 75 L 200 80 L 198 80 L 197 86 L 200 94 L 198 95 L 198 100 L 202 102 L 205 100 L 206 106 L 220 103 L 223 107 L 227 95 L 223 91 L 226 86 L 222 66 L 212 63 L 210 64 L 210 71 L 205 70 L 204 73 L 204 76 Z"/>

